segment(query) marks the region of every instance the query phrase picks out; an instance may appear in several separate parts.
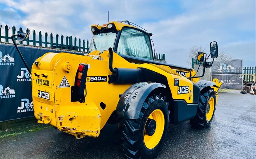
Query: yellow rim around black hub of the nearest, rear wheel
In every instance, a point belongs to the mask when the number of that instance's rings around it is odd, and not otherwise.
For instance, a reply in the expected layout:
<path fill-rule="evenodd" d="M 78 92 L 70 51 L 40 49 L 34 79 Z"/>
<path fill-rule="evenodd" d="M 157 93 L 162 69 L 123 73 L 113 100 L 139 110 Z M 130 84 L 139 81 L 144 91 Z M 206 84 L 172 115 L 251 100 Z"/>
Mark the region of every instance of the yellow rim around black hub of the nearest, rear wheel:
<path fill-rule="evenodd" d="M 144 144 L 148 149 L 152 149 L 156 147 L 156 145 L 159 143 L 159 141 L 162 138 L 163 130 L 165 128 L 165 116 L 163 115 L 163 112 L 160 109 L 154 110 L 150 116 L 148 117 L 150 119 L 154 119 L 156 121 L 156 131 L 152 136 L 149 136 L 146 134 L 145 128 L 144 128 Z"/>

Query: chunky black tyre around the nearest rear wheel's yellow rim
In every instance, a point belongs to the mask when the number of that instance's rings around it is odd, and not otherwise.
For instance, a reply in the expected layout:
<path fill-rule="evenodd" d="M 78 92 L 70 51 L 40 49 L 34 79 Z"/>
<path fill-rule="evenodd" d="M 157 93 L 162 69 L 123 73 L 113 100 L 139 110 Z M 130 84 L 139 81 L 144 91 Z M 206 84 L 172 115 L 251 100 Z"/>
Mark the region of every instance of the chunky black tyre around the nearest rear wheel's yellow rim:
<path fill-rule="evenodd" d="M 149 149 L 144 143 L 144 129 L 148 117 L 155 110 L 164 116 L 164 129 L 158 144 Z M 122 119 L 118 124 L 118 141 L 125 158 L 156 158 L 163 148 L 169 126 L 168 103 L 161 94 L 148 97 L 144 102 L 138 119 Z"/>

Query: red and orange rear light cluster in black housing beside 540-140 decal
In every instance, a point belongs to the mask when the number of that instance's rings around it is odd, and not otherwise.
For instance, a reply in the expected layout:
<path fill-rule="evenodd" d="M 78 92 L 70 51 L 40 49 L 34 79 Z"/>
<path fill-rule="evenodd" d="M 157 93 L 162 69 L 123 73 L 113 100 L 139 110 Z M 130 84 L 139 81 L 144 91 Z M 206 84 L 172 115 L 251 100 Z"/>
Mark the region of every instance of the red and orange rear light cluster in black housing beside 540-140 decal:
<path fill-rule="evenodd" d="M 85 82 L 88 64 L 80 63 L 76 71 L 75 85 L 71 87 L 71 102 L 85 102 L 84 91 L 86 92 Z"/>

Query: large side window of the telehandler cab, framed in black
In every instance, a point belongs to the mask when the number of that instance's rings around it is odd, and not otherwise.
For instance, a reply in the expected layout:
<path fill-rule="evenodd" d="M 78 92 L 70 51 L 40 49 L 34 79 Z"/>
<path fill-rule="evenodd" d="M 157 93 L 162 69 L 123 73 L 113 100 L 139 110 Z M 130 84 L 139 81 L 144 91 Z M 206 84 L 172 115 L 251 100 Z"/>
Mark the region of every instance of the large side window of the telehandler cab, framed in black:
<path fill-rule="evenodd" d="M 131 28 L 124 28 L 122 30 L 117 46 L 117 53 L 153 60 L 148 35 Z"/>

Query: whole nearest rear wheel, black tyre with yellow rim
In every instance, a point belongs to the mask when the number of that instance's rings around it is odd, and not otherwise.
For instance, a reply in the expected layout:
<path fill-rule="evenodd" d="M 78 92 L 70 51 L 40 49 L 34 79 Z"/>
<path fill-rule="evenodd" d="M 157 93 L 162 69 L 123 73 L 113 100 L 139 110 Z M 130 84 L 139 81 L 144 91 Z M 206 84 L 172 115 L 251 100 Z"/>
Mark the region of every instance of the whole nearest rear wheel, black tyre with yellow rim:
<path fill-rule="evenodd" d="M 163 147 L 168 121 L 168 103 L 161 94 L 146 99 L 138 119 L 122 119 L 118 136 L 125 158 L 155 158 Z"/>

